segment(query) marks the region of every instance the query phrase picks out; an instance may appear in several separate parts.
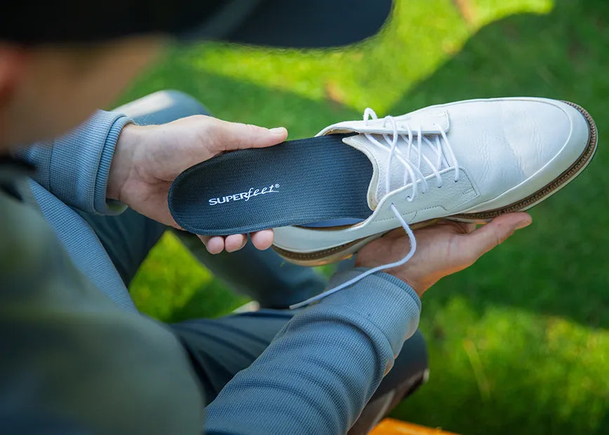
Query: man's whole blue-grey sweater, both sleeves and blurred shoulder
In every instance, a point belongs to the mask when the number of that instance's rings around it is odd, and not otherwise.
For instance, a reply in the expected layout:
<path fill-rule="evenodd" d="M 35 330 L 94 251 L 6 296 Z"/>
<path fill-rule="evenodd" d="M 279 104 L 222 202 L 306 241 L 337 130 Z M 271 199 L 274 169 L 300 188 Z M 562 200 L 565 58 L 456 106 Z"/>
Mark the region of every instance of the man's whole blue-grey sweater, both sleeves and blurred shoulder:
<path fill-rule="evenodd" d="M 97 236 L 71 208 L 123 210 L 105 191 L 128 121 L 98 112 L 52 148 L 18 153 L 35 175 L 11 161 L 0 166 L 0 421 L 24 433 L 203 428 L 206 402 L 184 349 L 163 324 L 138 314 Z M 337 274 L 330 286 L 360 272 Z M 302 310 L 208 404 L 204 431 L 344 433 L 419 314 L 415 291 L 384 273 Z"/>

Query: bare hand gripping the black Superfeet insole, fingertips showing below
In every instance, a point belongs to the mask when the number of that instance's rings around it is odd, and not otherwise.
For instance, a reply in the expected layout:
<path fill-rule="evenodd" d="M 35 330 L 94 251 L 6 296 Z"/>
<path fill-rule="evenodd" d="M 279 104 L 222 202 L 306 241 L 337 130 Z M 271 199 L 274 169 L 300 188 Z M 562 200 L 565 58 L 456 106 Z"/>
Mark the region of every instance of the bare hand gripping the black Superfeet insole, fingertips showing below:
<path fill-rule="evenodd" d="M 203 115 L 160 126 L 125 126 L 116 143 L 107 197 L 157 222 L 180 228 L 169 212 L 167 195 L 183 170 L 223 152 L 270 147 L 287 136 L 283 127 L 269 130 Z M 199 238 L 213 254 L 239 250 L 247 242 L 246 234 Z M 253 233 L 251 239 L 256 248 L 267 249 L 273 243 L 273 231 Z"/>

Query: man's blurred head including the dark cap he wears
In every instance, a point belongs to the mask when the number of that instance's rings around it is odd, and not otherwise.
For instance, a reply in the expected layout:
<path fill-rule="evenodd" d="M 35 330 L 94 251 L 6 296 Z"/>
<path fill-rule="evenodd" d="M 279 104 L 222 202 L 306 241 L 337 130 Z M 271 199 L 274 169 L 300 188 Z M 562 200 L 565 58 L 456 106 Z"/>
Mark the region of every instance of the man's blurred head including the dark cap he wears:
<path fill-rule="evenodd" d="M 13 1 L 0 14 L 0 152 L 107 107 L 170 37 L 339 46 L 375 34 L 390 11 L 391 0 Z"/>

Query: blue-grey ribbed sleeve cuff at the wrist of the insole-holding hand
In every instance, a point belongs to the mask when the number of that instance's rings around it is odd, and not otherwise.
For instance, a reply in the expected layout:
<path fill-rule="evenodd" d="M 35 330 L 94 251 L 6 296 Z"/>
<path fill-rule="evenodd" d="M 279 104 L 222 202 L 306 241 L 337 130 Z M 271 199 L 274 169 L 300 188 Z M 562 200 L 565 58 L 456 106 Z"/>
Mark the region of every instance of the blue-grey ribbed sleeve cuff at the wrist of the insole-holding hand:
<path fill-rule="evenodd" d="M 62 202 L 89 213 L 113 215 L 124 209 L 106 199 L 114 147 L 131 119 L 117 112 L 95 112 L 81 126 L 51 144 L 36 144 L 16 153 L 36 166 L 34 180 Z"/>

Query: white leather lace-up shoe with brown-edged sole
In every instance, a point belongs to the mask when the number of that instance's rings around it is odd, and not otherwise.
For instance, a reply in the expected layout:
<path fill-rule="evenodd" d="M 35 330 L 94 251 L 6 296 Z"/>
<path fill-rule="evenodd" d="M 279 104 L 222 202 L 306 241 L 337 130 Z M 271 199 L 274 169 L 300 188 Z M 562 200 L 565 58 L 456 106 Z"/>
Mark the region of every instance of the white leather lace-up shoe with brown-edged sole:
<path fill-rule="evenodd" d="M 467 100 L 324 128 L 373 166 L 361 222 L 275 229 L 290 262 L 342 260 L 391 229 L 439 217 L 468 222 L 526 210 L 573 180 L 596 150 L 596 127 L 582 107 L 544 98 Z M 344 225 L 341 225 L 344 224 Z"/>

